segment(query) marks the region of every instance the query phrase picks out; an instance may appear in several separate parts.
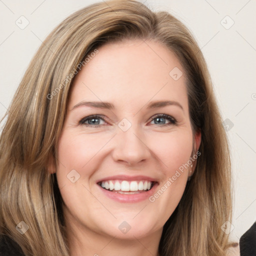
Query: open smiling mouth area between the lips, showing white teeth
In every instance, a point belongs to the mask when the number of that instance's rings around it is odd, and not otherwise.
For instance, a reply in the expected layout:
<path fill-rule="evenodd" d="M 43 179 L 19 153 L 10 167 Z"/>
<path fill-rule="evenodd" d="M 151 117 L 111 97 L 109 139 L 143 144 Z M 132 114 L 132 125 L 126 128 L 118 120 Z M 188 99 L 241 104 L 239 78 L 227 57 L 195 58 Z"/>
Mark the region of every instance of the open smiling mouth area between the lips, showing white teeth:
<path fill-rule="evenodd" d="M 149 180 L 104 180 L 97 184 L 103 189 L 120 194 L 137 194 L 150 190 L 157 182 Z"/>

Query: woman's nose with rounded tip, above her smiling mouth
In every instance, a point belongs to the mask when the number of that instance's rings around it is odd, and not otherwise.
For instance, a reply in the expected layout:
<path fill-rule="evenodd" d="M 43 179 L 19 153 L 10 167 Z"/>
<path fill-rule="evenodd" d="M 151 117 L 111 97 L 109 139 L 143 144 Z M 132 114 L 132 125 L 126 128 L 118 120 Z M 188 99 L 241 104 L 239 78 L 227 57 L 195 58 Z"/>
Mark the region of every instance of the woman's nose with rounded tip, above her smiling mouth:
<path fill-rule="evenodd" d="M 115 135 L 112 157 L 128 165 L 137 164 L 150 157 L 150 149 L 143 134 L 131 126 L 127 131 L 118 130 Z"/>

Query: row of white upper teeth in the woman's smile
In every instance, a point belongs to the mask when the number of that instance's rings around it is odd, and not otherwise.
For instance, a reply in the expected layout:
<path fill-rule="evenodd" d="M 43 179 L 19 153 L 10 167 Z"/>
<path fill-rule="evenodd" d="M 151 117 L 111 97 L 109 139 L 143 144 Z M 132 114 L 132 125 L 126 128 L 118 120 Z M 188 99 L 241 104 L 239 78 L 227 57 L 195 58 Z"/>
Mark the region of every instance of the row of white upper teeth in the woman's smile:
<path fill-rule="evenodd" d="M 109 190 L 121 190 L 121 191 L 137 191 L 150 189 L 151 181 L 118 181 L 118 180 L 105 180 L 100 183 L 101 187 Z"/>

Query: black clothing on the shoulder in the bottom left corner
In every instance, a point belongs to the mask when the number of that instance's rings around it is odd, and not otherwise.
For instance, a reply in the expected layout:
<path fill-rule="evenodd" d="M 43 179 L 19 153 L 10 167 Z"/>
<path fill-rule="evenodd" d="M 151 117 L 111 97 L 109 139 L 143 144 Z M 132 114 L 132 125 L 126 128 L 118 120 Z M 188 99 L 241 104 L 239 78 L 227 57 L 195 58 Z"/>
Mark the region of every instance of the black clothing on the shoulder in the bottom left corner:
<path fill-rule="evenodd" d="M 24 256 L 19 245 L 7 235 L 0 235 L 0 256 Z"/>

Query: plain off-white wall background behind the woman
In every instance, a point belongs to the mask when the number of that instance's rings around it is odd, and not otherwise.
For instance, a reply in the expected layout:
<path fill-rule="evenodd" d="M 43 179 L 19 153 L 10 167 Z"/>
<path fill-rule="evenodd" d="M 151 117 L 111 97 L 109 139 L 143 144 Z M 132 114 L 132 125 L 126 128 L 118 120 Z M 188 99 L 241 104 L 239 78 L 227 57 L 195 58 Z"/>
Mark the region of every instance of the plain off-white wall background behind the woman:
<path fill-rule="evenodd" d="M 234 184 L 230 230 L 238 240 L 256 220 L 256 2 L 140 1 L 154 11 L 169 11 L 192 31 L 207 61 L 223 120 L 233 123 L 227 131 Z M 0 0 L 0 117 L 46 35 L 69 14 L 93 2 Z M 29 24 L 21 29 L 25 19 Z"/>

